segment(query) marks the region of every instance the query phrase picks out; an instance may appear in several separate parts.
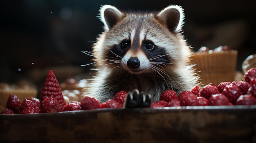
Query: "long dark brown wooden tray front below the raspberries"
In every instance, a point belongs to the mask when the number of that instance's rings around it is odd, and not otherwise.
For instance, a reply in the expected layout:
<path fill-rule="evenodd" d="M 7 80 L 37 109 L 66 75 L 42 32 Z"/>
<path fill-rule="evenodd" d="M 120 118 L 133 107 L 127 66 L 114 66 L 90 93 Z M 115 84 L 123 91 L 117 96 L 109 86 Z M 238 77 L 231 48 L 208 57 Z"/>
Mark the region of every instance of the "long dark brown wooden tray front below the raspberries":
<path fill-rule="evenodd" d="M 0 143 L 253 143 L 256 106 L 0 115 Z"/>

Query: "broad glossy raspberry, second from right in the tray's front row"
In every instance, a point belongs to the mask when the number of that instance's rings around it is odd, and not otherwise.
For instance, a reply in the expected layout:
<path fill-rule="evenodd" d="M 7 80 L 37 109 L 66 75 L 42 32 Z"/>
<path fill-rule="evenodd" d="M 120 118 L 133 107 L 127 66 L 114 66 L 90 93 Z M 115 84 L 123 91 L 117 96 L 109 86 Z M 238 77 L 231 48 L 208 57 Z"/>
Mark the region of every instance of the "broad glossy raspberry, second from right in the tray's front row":
<path fill-rule="evenodd" d="M 222 93 L 211 95 L 209 98 L 209 106 L 225 106 L 229 105 L 229 99 Z"/>

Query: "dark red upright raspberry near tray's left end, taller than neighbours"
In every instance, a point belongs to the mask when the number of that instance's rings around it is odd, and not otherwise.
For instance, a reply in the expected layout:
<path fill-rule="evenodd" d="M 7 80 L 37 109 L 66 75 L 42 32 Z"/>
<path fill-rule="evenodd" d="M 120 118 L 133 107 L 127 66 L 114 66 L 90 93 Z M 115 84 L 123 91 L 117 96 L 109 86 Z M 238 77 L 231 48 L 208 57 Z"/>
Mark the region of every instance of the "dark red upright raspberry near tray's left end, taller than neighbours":
<path fill-rule="evenodd" d="M 7 100 L 7 108 L 15 113 L 20 112 L 20 99 L 16 95 L 10 94 Z"/>

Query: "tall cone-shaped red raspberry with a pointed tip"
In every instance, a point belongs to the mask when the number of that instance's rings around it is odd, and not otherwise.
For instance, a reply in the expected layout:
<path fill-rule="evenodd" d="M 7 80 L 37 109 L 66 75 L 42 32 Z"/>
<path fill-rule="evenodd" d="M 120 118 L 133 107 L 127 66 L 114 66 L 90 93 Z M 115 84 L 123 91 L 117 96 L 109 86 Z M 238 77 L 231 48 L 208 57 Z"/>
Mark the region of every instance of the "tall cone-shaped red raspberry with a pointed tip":
<path fill-rule="evenodd" d="M 66 104 L 53 70 L 49 70 L 48 77 L 45 79 L 45 84 L 40 95 L 40 102 L 42 103 L 42 101 L 47 97 L 56 98 L 60 106 L 64 106 Z"/>

